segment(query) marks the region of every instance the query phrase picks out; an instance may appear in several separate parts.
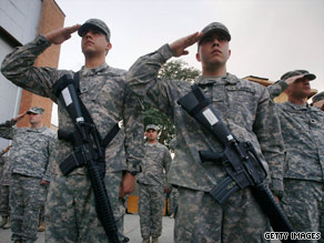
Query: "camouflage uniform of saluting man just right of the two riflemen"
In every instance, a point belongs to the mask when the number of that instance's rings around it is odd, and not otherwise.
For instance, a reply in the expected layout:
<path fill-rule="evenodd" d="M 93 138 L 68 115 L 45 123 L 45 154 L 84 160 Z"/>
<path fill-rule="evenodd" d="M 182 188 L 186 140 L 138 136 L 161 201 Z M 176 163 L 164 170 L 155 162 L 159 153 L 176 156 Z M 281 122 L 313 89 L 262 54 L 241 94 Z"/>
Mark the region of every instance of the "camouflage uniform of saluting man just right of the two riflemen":
<path fill-rule="evenodd" d="M 286 88 L 282 80 L 269 91 L 275 98 Z M 291 102 L 277 103 L 276 110 L 286 150 L 283 209 L 295 231 L 318 232 L 324 203 L 324 112 Z"/>

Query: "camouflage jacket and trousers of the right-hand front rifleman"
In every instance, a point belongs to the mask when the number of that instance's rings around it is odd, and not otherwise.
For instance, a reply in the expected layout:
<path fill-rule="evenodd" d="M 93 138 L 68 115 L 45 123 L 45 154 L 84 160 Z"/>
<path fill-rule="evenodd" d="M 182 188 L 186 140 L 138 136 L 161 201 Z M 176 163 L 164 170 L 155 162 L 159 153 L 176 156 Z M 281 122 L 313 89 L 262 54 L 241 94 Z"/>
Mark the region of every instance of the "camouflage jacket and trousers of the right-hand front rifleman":
<path fill-rule="evenodd" d="M 174 241 L 263 242 L 270 224 L 250 189 L 233 194 L 223 205 L 206 193 L 226 172 L 220 164 L 201 163 L 199 151 L 220 152 L 222 145 L 178 105 L 176 101 L 191 92 L 191 83 L 156 78 L 161 65 L 171 57 L 172 50 L 165 44 L 140 58 L 129 70 L 126 80 L 139 97 L 175 123 L 175 156 L 169 173 L 170 183 L 178 185 L 180 193 Z M 230 131 L 239 140 L 252 142 L 270 171 L 272 189 L 282 191 L 283 143 L 274 103 L 266 89 L 230 73 L 221 78 L 200 77 L 195 83 L 211 98 Z"/>

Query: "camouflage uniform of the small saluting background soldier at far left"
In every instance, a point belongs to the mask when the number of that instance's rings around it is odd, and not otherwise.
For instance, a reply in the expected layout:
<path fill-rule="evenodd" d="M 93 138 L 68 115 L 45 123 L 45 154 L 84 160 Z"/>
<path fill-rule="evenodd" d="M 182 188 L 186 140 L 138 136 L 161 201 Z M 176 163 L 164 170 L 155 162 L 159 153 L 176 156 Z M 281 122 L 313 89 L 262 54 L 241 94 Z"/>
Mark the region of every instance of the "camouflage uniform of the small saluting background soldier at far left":
<path fill-rule="evenodd" d="M 44 203 L 41 180 L 50 181 L 54 133 L 45 128 L 12 128 L 14 121 L 0 124 L 0 136 L 12 140 L 10 152 L 10 207 L 12 241 L 37 240 L 39 210 Z"/>

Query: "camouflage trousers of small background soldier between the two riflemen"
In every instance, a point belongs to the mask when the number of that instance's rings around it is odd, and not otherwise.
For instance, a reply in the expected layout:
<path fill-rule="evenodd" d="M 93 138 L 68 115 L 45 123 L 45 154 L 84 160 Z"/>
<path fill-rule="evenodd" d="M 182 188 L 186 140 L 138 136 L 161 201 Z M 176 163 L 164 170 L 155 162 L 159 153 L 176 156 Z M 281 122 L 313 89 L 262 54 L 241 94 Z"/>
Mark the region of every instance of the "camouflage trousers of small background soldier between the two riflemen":
<path fill-rule="evenodd" d="M 164 201 L 163 186 L 139 183 L 139 215 L 143 239 L 161 235 Z"/>

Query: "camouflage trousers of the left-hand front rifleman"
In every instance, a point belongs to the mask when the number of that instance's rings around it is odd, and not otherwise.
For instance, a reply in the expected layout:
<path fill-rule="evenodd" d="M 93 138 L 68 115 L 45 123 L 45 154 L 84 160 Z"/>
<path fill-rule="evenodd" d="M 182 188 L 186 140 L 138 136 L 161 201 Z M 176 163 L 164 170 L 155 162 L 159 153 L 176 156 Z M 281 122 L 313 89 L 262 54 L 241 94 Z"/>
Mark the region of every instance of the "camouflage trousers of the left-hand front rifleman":
<path fill-rule="evenodd" d="M 105 186 L 114 219 L 122 232 L 124 206 L 119 199 L 121 180 L 122 172 L 105 174 Z M 94 204 L 88 175 L 52 175 L 45 203 L 45 242 L 108 242 Z"/>

